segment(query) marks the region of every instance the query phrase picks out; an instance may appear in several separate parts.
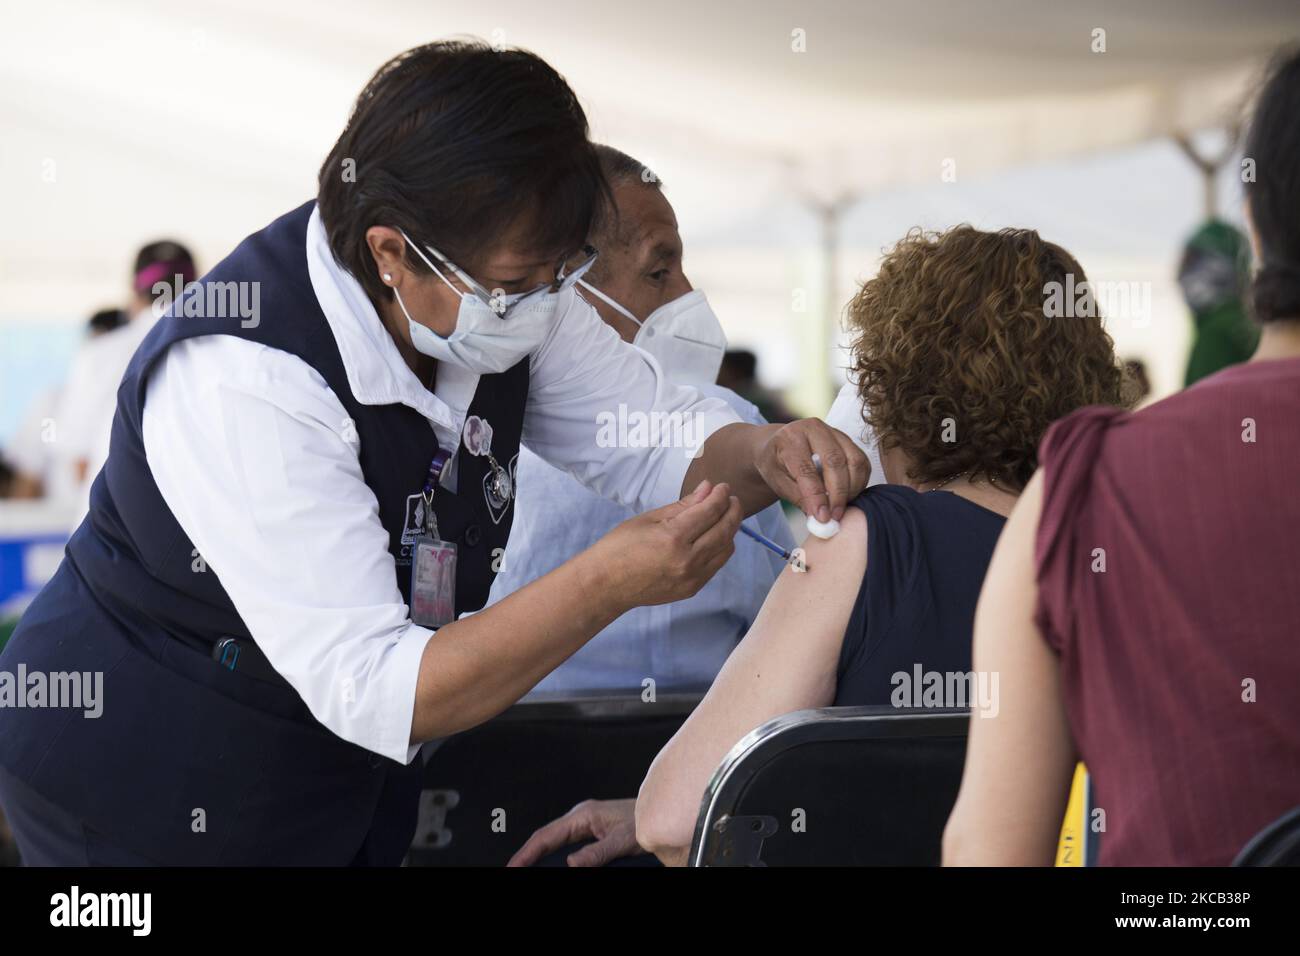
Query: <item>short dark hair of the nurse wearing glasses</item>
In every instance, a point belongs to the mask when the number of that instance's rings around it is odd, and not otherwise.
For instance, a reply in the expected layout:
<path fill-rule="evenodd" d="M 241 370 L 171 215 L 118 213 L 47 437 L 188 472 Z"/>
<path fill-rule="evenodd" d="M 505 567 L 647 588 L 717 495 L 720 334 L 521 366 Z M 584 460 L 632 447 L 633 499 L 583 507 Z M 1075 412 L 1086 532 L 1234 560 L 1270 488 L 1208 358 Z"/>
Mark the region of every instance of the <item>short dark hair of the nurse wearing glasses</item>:
<path fill-rule="evenodd" d="M 534 53 L 481 40 L 426 43 L 384 64 L 325 157 L 317 194 L 334 258 L 376 302 L 391 293 L 376 276 L 370 226 L 402 229 L 472 273 L 517 221 L 532 248 L 559 261 L 607 200 L 564 78 Z M 410 250 L 407 264 L 428 272 Z"/>

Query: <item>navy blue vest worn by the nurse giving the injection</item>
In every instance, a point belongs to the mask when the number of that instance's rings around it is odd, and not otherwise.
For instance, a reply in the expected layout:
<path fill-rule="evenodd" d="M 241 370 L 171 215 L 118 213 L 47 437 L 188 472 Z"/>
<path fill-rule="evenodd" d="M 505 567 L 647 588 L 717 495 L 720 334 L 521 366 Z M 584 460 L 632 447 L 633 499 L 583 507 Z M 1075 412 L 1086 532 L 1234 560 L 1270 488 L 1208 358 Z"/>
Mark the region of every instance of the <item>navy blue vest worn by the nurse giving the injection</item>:
<path fill-rule="evenodd" d="M 308 203 L 248 237 L 200 281 L 259 282 L 257 323 L 186 316 L 182 300 L 144 339 L 118 389 L 90 514 L 0 656 L 10 671 L 25 663 L 29 671 L 104 672 L 99 718 L 0 711 L 0 763 L 92 830 L 159 862 L 395 864 L 415 827 L 419 760 L 404 766 L 350 744 L 320 724 L 287 682 L 213 661 L 217 641 L 250 641 L 248 630 L 216 572 L 196 571 L 200 555 L 144 458 L 146 385 L 170 346 L 230 334 L 298 355 L 352 420 L 410 602 L 415 502 L 436 437 L 415 410 L 352 395 L 307 272 L 311 212 Z M 526 397 L 525 359 L 484 376 L 471 403 L 469 414 L 493 425 L 493 454 L 503 464 L 517 454 Z M 486 459 L 462 450 L 456 462 L 459 493 L 439 489 L 434 511 L 441 536 L 459 545 L 459 613 L 486 601 L 512 507 L 502 512 L 489 502 Z M 312 559 L 309 541 L 303 559 Z M 338 576 L 344 587 L 347 568 Z"/>

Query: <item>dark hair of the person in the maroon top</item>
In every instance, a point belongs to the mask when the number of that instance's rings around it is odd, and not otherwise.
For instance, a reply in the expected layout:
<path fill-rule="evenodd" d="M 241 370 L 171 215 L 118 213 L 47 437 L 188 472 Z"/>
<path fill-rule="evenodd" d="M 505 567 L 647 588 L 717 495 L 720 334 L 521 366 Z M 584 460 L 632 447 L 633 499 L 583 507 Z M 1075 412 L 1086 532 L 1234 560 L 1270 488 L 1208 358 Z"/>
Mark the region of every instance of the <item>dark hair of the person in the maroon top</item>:
<path fill-rule="evenodd" d="M 1256 100 L 1245 189 L 1260 246 L 1251 299 L 1262 323 L 1300 319 L 1300 49 L 1277 56 Z"/>

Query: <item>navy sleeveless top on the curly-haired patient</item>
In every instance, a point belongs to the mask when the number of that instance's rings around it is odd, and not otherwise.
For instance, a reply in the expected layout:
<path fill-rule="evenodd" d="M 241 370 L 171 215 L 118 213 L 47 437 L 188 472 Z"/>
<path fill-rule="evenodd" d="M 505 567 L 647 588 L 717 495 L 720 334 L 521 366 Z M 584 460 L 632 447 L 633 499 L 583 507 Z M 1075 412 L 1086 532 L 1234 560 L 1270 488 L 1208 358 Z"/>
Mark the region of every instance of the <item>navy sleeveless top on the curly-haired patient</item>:
<path fill-rule="evenodd" d="M 905 485 L 868 488 L 852 503 L 867 516 L 867 574 L 844 633 L 835 705 L 897 704 L 918 674 L 970 671 L 975 602 L 1006 519 Z"/>

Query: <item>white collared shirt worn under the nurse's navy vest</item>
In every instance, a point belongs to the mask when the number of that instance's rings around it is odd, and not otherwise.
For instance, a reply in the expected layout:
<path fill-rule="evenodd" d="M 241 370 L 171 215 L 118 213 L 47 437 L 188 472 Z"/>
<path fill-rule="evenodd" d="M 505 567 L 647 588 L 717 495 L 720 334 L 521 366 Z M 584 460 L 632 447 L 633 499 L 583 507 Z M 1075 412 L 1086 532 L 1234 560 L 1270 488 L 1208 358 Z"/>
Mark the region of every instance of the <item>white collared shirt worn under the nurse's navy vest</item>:
<path fill-rule="evenodd" d="M 430 393 L 403 362 L 360 284 L 307 228 L 312 289 L 364 405 L 402 403 L 460 453 L 478 376 L 443 363 Z M 263 315 L 260 321 L 276 321 Z M 680 496 L 682 447 L 606 447 L 619 406 L 688 415 L 698 441 L 738 421 L 720 399 L 667 382 L 572 291 L 533 354 L 524 441 L 593 490 L 646 510 Z M 162 499 L 220 578 L 250 633 L 312 714 L 341 737 L 410 762 L 420 658 L 359 437 L 316 369 L 234 336 L 172 346 L 150 376 L 144 451 Z M 452 464 L 455 458 L 452 458 Z M 445 470 L 445 485 L 455 468 Z"/>

